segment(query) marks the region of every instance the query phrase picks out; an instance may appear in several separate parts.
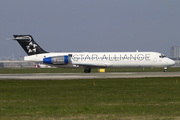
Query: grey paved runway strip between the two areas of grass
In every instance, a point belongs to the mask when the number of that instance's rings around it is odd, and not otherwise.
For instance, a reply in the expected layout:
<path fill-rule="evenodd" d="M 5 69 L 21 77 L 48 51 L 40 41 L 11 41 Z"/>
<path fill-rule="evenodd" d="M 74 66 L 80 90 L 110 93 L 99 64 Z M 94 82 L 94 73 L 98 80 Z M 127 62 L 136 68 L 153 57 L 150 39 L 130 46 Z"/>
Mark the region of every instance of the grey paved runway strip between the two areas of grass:
<path fill-rule="evenodd" d="M 94 78 L 145 78 L 145 77 L 180 77 L 180 72 L 116 72 L 116 73 L 34 73 L 0 74 L 0 80 L 66 80 Z"/>

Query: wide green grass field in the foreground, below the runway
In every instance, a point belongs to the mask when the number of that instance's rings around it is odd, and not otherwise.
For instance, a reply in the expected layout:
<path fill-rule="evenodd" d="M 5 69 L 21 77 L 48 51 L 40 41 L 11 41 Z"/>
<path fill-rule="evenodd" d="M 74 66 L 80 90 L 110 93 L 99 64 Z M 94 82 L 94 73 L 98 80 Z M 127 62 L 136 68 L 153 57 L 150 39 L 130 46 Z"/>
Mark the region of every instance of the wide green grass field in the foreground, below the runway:
<path fill-rule="evenodd" d="M 1 80 L 0 119 L 180 119 L 180 78 L 94 79 L 94 83 Z"/>

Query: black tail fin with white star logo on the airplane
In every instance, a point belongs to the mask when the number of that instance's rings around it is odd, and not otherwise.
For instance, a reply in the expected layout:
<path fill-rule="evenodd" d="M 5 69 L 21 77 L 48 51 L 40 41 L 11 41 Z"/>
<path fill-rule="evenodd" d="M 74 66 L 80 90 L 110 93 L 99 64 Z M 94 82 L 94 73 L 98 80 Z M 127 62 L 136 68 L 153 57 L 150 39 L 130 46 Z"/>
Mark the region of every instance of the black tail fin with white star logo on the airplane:
<path fill-rule="evenodd" d="M 31 35 L 13 35 L 14 39 L 19 42 L 21 47 L 28 55 L 48 53 L 43 50 L 33 39 Z"/>

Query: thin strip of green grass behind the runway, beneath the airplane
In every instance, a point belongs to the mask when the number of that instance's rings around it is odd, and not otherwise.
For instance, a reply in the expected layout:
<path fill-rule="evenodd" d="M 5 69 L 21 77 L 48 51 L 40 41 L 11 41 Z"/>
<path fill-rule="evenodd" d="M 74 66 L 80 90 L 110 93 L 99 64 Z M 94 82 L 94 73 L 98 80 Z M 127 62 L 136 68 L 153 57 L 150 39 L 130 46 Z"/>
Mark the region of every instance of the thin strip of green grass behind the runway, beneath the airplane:
<path fill-rule="evenodd" d="M 168 72 L 180 71 L 180 67 L 170 67 Z M 92 73 L 98 72 L 98 69 L 92 69 Z M 163 68 L 106 68 L 106 72 L 163 72 Z M 20 69 L 0 69 L 0 74 L 17 73 L 84 73 L 81 68 L 20 68 Z"/>

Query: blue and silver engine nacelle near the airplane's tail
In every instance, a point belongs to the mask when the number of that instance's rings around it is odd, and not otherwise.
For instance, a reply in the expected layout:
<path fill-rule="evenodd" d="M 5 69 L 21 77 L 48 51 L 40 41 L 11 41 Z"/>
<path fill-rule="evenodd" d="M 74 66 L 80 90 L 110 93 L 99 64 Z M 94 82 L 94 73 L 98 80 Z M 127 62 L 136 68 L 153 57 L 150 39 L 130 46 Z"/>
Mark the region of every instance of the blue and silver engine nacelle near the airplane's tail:
<path fill-rule="evenodd" d="M 68 55 L 43 58 L 43 63 L 65 65 L 69 63 Z"/>

